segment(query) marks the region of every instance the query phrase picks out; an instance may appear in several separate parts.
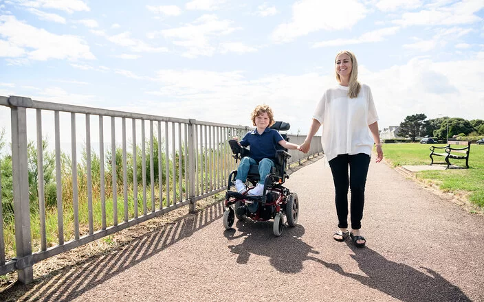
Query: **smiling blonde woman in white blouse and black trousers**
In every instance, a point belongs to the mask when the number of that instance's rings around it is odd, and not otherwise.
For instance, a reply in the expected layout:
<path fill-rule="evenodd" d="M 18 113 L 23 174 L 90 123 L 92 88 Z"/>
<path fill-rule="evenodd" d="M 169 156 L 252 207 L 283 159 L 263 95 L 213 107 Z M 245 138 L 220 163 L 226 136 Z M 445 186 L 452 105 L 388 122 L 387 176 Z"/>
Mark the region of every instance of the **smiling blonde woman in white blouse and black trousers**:
<path fill-rule="evenodd" d="M 322 125 L 322 148 L 333 174 L 340 228 L 333 238 L 343 242 L 351 237 L 356 246 L 363 247 L 366 240 L 360 229 L 364 187 L 373 143 L 376 143 L 376 162 L 383 159 L 378 115 L 370 87 L 358 82 L 355 55 L 351 51 L 340 51 L 336 55 L 335 69 L 338 85 L 328 89 L 316 106 L 309 133 L 299 150 L 305 153 L 309 150 L 311 139 Z M 351 188 L 351 232 L 347 220 L 348 188 Z"/>

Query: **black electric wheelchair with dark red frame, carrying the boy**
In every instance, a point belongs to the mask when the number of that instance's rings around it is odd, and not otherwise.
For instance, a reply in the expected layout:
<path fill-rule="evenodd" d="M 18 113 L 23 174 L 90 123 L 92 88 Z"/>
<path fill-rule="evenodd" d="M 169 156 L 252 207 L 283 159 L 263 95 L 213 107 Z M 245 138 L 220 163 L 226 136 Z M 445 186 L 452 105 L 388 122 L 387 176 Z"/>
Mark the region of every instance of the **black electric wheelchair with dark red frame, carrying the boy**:
<path fill-rule="evenodd" d="M 272 129 L 277 131 L 289 130 L 290 125 L 283 121 L 276 121 L 271 126 Z M 281 134 L 283 139 L 289 141 L 285 134 Z M 232 149 L 232 157 L 235 162 L 241 160 L 245 156 L 250 156 L 250 150 L 239 145 L 239 143 L 232 139 L 229 141 L 230 148 Z M 232 229 L 235 219 L 245 220 L 250 218 L 254 221 L 267 221 L 274 219 L 273 232 L 274 235 L 280 236 L 284 229 L 284 219 L 287 220 L 289 227 L 295 227 L 298 223 L 299 216 L 299 200 L 298 194 L 292 193 L 284 187 L 285 180 L 289 178 L 286 173 L 287 160 L 291 155 L 287 152 L 287 149 L 281 145 L 276 146 L 276 158 L 274 159 L 275 167 L 272 167 L 272 171 L 265 177 L 264 191 L 262 196 L 248 196 L 247 191 L 240 194 L 236 190 L 231 191 L 230 188 L 234 186 L 234 179 L 237 171 L 234 170 L 228 176 L 227 192 L 225 193 L 225 211 L 223 212 L 223 227 L 225 229 Z M 259 165 L 251 165 L 247 177 L 246 185 L 248 189 L 252 189 L 256 183 L 259 182 Z M 239 207 L 248 205 L 250 206 L 254 202 L 259 203 L 256 211 L 245 211 L 244 214 L 236 211 Z"/>

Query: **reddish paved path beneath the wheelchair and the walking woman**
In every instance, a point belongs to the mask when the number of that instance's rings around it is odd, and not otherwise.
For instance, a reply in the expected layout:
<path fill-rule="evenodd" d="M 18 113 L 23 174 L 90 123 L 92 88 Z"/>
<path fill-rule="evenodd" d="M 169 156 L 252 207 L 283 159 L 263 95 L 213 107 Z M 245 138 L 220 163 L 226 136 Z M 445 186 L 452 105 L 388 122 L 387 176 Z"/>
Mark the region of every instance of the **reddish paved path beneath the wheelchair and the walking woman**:
<path fill-rule="evenodd" d="M 336 242 L 323 161 L 287 181 L 299 225 L 225 231 L 218 203 L 38 286 L 40 301 L 484 301 L 484 218 L 371 163 L 362 233 Z M 48 298 L 47 298 L 48 297 Z"/>

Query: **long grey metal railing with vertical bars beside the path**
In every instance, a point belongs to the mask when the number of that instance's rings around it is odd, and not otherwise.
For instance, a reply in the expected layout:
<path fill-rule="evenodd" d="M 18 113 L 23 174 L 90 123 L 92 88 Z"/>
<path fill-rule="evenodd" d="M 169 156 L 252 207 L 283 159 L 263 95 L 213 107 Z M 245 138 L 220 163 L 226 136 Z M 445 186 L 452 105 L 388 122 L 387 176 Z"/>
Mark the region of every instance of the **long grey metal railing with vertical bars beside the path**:
<path fill-rule="evenodd" d="M 0 207 L 0 275 L 17 270 L 22 283 L 33 281 L 32 266 L 43 259 L 185 205 L 195 211 L 195 202 L 223 191 L 228 175 L 236 169 L 228 139 L 241 137 L 251 129 L 195 119 L 40 102 L 27 97 L 0 96 L 0 105 L 10 107 L 11 114 L 11 190 L 17 252 L 16 257 L 10 258 L 5 253 L 5 213 Z M 52 179 L 46 183 L 44 135 L 52 132 L 54 152 L 51 159 L 55 178 L 50 175 Z M 104 139 L 105 132 L 109 133 L 108 140 Z M 28 141 L 32 133 L 36 143 Z M 80 137 L 85 140 L 81 148 L 78 146 Z M 305 139 L 298 135 L 288 137 L 298 144 Z M 67 155 L 61 143 L 69 140 L 70 154 Z M 129 140 L 130 150 L 126 146 Z M 35 148 L 36 158 L 32 159 Z M 307 154 L 297 150 L 289 150 L 289 153 L 292 154 L 289 165 L 300 163 L 322 153 L 320 140 L 313 140 Z M 81 161 L 78 161 L 79 154 L 83 157 Z M 32 165 L 36 167 L 36 181 L 32 180 Z M 1 174 L 0 170 L 0 204 Z M 50 194 L 50 201 L 46 200 L 46 186 L 55 191 Z M 46 206 L 46 202 L 50 202 L 50 206 Z M 39 221 L 34 221 L 39 224 L 37 236 L 31 231 L 32 211 L 39 217 Z M 67 216 L 72 221 L 67 220 Z M 47 237 L 47 220 L 54 220 L 55 240 Z M 37 246 L 39 251 L 32 253 Z"/>

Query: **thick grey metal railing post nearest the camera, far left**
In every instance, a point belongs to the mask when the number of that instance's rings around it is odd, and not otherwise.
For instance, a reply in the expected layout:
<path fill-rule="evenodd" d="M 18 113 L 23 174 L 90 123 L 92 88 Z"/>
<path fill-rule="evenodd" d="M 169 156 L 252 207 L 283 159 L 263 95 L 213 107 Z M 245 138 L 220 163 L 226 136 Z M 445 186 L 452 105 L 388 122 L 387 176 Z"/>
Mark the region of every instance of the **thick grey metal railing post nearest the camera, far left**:
<path fill-rule="evenodd" d="M 32 254 L 30 239 L 30 200 L 27 156 L 27 109 L 32 100 L 27 97 L 8 98 L 12 114 L 12 181 L 14 194 L 15 244 L 17 258 Z M 32 265 L 17 270 L 19 281 L 24 284 L 34 281 Z"/>

